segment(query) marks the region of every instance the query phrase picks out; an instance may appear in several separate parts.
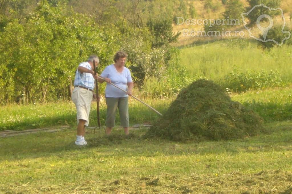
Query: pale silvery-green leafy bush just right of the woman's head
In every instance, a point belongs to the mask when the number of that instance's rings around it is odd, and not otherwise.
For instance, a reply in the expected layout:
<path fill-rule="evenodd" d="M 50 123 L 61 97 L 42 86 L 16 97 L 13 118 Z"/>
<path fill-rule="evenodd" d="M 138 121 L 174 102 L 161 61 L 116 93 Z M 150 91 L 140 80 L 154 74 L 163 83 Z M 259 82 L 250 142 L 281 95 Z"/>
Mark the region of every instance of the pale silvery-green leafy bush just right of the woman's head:
<path fill-rule="evenodd" d="M 132 72 L 135 86 L 139 88 L 142 87 L 144 80 L 149 77 L 159 79 L 167 68 L 168 60 L 173 57 L 178 58 L 178 55 L 172 52 L 174 48 L 169 46 L 166 39 L 159 39 L 160 46 L 153 46 L 155 41 L 153 39 L 154 35 L 151 33 L 153 32 L 148 31 L 147 28 L 140 29 L 138 32 L 128 30 L 126 37 L 121 41 L 121 50 L 128 53 L 126 65 Z"/>

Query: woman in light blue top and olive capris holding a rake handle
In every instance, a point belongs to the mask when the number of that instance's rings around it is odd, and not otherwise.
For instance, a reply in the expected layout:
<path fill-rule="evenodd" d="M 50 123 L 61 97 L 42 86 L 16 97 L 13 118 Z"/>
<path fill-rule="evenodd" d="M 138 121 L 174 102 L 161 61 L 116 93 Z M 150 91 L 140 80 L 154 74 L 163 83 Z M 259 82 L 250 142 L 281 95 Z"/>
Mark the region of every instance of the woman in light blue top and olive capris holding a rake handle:
<path fill-rule="evenodd" d="M 114 55 L 115 63 L 107 66 L 100 75 L 104 80 L 98 79 L 100 83 L 107 82 L 105 88 L 105 101 L 107 104 L 105 126 L 107 135 L 111 133 L 114 127 L 117 108 L 119 109 L 121 126 L 124 127 L 125 134 L 129 134 L 128 95 L 132 95 L 134 84 L 130 70 L 124 66 L 127 56 L 125 52 L 118 51 Z M 112 86 L 110 83 L 126 90 L 127 93 Z"/>

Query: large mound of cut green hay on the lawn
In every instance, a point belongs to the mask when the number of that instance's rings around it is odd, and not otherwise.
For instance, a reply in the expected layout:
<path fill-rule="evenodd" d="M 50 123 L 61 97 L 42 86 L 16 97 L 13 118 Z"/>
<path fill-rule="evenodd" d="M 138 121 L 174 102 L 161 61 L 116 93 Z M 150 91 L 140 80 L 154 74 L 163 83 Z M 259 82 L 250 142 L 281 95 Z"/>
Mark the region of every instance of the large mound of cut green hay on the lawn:
<path fill-rule="evenodd" d="M 263 120 L 213 81 L 199 79 L 184 88 L 147 137 L 175 141 L 228 140 L 263 131 Z"/>

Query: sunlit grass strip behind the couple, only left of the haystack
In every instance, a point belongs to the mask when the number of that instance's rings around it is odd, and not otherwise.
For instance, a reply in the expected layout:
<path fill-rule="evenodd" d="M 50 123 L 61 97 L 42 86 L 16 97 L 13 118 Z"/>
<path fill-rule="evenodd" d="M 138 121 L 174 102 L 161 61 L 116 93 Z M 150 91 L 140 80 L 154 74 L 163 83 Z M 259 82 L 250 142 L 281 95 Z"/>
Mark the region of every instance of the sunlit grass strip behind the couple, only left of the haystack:
<path fill-rule="evenodd" d="M 145 99 L 143 101 L 163 113 L 168 108 L 171 99 Z M 130 124 L 147 123 L 159 117 L 157 113 L 135 99 L 129 99 L 129 107 Z M 1 106 L 1 109 L 4 111 L 0 112 L 0 131 L 34 129 L 64 124 L 76 125 L 76 108 L 72 102 L 8 105 Z M 106 104 L 103 101 L 100 102 L 100 122 L 102 126 L 105 125 L 105 115 Z M 119 125 L 118 113 L 116 124 Z M 89 126 L 97 126 L 96 102 L 91 105 Z"/>

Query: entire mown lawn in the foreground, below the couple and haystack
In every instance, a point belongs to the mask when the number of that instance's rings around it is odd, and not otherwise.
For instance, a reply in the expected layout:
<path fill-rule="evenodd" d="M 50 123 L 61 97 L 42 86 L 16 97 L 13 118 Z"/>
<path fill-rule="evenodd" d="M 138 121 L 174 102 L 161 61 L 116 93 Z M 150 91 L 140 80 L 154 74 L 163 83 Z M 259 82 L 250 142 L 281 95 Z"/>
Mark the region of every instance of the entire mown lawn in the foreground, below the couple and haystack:
<path fill-rule="evenodd" d="M 143 139 L 75 129 L 1 138 L 0 193 L 280 193 L 291 188 L 292 122 L 237 141 Z"/>

